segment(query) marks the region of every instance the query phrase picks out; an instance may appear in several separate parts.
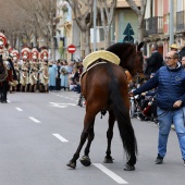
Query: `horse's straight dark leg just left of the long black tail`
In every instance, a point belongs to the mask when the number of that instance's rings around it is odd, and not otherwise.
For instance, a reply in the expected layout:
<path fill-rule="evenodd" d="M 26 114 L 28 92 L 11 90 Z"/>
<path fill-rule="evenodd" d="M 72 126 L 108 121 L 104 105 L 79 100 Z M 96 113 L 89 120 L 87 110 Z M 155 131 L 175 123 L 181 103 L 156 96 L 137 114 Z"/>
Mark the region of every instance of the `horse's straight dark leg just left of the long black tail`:
<path fill-rule="evenodd" d="M 108 148 L 106 151 L 104 163 L 113 163 L 113 158 L 111 157 L 111 141 L 113 138 L 113 126 L 114 126 L 115 118 L 112 111 L 109 111 L 109 127 L 107 131 L 108 138 Z"/>

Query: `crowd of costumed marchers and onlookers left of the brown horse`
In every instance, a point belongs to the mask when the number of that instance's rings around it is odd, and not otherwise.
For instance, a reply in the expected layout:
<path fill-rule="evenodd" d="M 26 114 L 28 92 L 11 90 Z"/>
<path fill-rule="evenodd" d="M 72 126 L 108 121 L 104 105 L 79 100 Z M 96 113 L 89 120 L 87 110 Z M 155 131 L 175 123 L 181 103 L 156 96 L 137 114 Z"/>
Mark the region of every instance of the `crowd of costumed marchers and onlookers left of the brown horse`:
<path fill-rule="evenodd" d="M 8 91 L 48 92 L 74 90 L 81 92 L 82 61 L 49 60 L 46 47 L 12 48 L 0 33 L 0 102 L 7 103 Z"/>

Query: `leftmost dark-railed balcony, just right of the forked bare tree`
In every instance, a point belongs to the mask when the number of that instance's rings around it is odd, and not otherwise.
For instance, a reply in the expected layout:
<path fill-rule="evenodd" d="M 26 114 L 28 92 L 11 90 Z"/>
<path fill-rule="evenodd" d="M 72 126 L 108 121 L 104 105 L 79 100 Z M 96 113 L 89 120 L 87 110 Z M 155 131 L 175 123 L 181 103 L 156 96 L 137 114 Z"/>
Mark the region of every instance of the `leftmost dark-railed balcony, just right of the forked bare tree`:
<path fill-rule="evenodd" d="M 146 18 L 144 22 L 144 36 L 163 34 L 163 16 L 153 16 Z"/>

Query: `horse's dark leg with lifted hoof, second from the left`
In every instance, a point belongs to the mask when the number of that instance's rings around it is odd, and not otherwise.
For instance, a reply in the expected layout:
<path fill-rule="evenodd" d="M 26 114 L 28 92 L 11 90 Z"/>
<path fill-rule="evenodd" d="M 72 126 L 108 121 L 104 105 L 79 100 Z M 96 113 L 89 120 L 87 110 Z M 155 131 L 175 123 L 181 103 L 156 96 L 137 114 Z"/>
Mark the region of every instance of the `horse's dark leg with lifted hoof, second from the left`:
<path fill-rule="evenodd" d="M 90 151 L 91 141 L 95 138 L 94 124 L 95 124 L 95 119 L 91 123 L 91 127 L 90 127 L 89 133 L 88 133 L 88 141 L 87 141 L 87 146 L 84 150 L 84 156 L 81 158 L 81 163 L 85 166 L 89 166 L 91 164 L 90 158 L 89 158 L 88 155 L 89 155 L 89 151 Z"/>

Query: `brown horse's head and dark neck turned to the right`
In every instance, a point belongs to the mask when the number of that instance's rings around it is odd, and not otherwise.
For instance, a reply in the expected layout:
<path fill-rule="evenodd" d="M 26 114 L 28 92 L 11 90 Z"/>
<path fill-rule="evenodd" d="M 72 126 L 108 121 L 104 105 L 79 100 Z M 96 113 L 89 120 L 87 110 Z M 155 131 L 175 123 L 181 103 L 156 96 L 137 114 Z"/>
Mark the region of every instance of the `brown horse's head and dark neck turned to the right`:
<path fill-rule="evenodd" d="M 120 58 L 120 65 L 126 69 L 131 75 L 144 77 L 143 71 L 143 52 L 140 51 L 144 42 L 137 47 L 133 44 L 120 42 L 110 46 L 107 50 L 113 52 Z"/>

